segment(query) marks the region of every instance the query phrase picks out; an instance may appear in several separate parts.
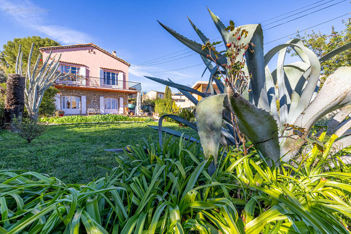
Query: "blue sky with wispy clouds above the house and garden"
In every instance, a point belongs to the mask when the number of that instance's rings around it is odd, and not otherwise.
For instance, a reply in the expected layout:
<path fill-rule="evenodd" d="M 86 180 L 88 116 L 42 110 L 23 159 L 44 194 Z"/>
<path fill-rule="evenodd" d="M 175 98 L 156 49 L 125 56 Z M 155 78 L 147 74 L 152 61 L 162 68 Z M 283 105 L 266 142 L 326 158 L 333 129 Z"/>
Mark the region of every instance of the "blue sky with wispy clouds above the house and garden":
<path fill-rule="evenodd" d="M 0 44 L 6 44 L 8 40 L 13 40 L 14 38 L 33 35 L 54 39 L 62 45 L 93 42 L 109 52 L 116 51 L 117 56 L 131 63 L 129 80 L 141 82 L 143 91 L 150 91 L 151 89 L 164 91 L 164 85 L 150 81 L 144 78 L 143 75 L 161 79 L 170 78 L 174 82 L 192 85 L 197 80 L 208 80 L 209 74 L 206 72 L 204 77 L 201 78 L 205 68 L 203 65 L 179 69 L 197 65 L 202 60 L 199 55 L 191 55 L 193 52 L 190 49 L 186 49 L 183 44 L 168 34 L 156 20 L 175 29 L 187 38 L 200 42 L 186 15 L 208 38 L 217 38 L 219 33 L 208 14 L 206 6 L 217 14 L 224 24 L 227 25 L 229 20 L 233 20 L 236 25 L 244 25 L 257 24 L 310 4 L 313 5 L 285 14 L 274 20 L 263 22 L 264 42 L 282 38 L 296 32 L 297 29 L 309 28 L 347 14 L 351 9 L 351 4 L 348 0 L 297 0 L 293 4 L 291 1 L 282 0 L 208 2 L 179 0 L 113 2 L 0 0 L 0 7 L 2 8 L 0 10 Z M 336 5 L 311 13 L 333 4 Z M 321 6 L 315 7 L 318 5 Z M 315 8 L 287 17 L 311 7 Z M 39 12 L 31 12 L 31 9 L 38 9 Z M 268 29 L 305 14 L 309 15 Z M 350 16 L 346 15 L 332 20 L 314 27 L 313 30 L 329 33 L 332 25 L 337 30 L 341 30 L 344 28 L 341 20 L 346 20 Z M 280 21 L 265 26 L 276 20 Z M 307 32 L 311 32 L 311 30 L 309 29 Z M 265 52 L 276 45 L 283 44 L 288 39 L 284 38 L 266 44 L 264 47 Z M 222 46 L 221 48 L 224 47 Z M 156 59 L 171 53 L 174 54 Z M 180 55 L 182 53 L 186 54 Z M 175 57 L 167 59 L 172 56 Z M 181 58 L 183 56 L 187 57 Z M 145 63 L 149 60 L 153 61 Z M 169 60 L 174 61 L 167 62 Z M 271 71 L 275 69 L 276 60 L 273 58 L 273 61 L 269 64 Z M 140 63 L 149 66 L 142 66 Z M 179 70 L 162 72 L 173 69 Z M 173 91 L 176 90 L 173 89 Z"/>

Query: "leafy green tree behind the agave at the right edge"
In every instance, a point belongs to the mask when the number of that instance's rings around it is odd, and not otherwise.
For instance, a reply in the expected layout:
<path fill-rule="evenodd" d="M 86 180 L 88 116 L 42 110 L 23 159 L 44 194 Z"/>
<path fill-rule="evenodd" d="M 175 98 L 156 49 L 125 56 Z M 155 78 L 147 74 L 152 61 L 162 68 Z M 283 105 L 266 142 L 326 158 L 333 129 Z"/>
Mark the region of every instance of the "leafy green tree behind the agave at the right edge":
<path fill-rule="evenodd" d="M 335 27 L 332 26 L 330 34 L 312 31 L 311 34 L 305 33 L 301 35 L 297 33 L 296 38 L 299 38 L 306 47 L 310 48 L 320 58 L 326 53 L 351 42 L 351 18 L 342 22 L 345 25 L 345 29 L 340 32 L 336 31 Z M 321 64 L 321 74 L 324 74 L 322 82 L 339 67 L 350 66 L 350 52 L 351 49 L 348 49 Z M 296 53 L 293 53 L 293 55 L 296 55 Z"/>

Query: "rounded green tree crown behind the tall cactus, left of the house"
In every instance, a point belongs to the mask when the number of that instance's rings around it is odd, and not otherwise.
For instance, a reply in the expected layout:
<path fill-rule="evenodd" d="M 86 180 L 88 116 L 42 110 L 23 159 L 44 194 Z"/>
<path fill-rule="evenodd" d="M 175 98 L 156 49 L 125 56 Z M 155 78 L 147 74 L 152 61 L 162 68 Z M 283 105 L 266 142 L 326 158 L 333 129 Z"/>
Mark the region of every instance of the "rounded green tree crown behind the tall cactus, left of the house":
<path fill-rule="evenodd" d="M 28 55 L 31 50 L 31 45 L 34 42 L 34 49 L 32 57 L 35 58 L 31 61 L 32 65 L 34 65 L 36 58 L 40 55 L 40 47 L 45 46 L 60 46 L 59 42 L 54 41 L 50 38 L 41 38 L 40 36 L 32 36 L 26 38 L 15 38 L 12 41 L 7 41 L 7 44 L 3 46 L 4 50 L 2 53 L 2 59 L 0 62 L 3 66 L 6 66 L 7 73 L 14 73 L 15 71 L 15 63 L 16 57 L 18 54 L 19 45 L 22 45 L 21 50 L 23 51 L 23 64 L 26 66 L 28 63 Z"/>

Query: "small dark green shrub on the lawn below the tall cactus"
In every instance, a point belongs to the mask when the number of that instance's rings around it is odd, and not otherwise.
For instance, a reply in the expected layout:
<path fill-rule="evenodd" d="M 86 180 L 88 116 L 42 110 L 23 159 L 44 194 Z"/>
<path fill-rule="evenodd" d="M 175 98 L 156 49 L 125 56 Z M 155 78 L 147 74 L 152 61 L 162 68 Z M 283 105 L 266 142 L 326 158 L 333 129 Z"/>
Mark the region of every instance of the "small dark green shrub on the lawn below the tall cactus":
<path fill-rule="evenodd" d="M 23 139 L 26 139 L 29 143 L 31 143 L 34 138 L 42 135 L 46 129 L 46 125 L 42 123 L 22 117 L 13 118 L 12 126 L 13 131 Z"/>

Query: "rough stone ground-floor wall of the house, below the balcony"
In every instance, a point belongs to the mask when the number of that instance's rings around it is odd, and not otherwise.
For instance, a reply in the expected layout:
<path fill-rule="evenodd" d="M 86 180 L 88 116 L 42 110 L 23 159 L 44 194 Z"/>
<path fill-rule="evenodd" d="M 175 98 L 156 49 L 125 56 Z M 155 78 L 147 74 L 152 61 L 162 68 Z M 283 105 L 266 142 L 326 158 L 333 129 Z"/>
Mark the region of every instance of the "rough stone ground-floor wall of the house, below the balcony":
<path fill-rule="evenodd" d="M 112 92 L 112 91 L 101 91 L 101 90 L 88 90 L 88 89 L 73 89 L 73 88 L 58 88 L 60 90 L 60 96 L 73 95 L 86 96 L 86 109 L 88 108 L 100 108 L 100 96 L 104 98 L 123 98 L 123 114 L 127 114 L 125 108 L 128 107 L 128 93 L 123 92 Z M 62 102 L 62 99 L 61 99 Z M 62 103 L 61 103 L 62 106 Z M 120 106 L 120 103 L 118 103 Z"/>

